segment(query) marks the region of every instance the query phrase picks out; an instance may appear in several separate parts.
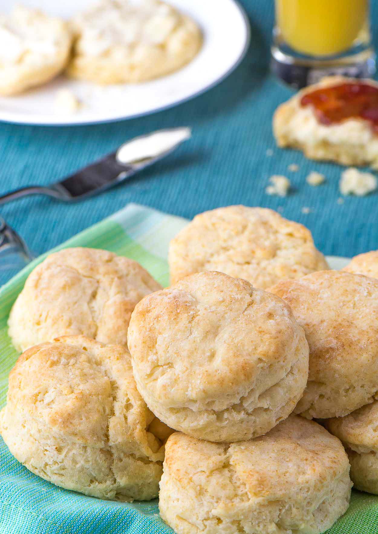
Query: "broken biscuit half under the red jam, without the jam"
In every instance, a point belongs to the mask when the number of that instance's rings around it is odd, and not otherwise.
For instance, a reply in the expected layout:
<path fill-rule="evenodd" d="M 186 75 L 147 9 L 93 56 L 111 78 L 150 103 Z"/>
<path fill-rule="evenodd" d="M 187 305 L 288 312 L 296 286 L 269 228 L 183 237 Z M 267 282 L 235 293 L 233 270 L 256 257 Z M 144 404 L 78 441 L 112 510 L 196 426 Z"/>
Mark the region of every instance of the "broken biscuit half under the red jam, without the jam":
<path fill-rule="evenodd" d="M 317 120 L 311 106 L 301 106 L 306 93 L 350 81 L 353 79 L 342 76 L 326 77 L 281 104 L 273 117 L 277 145 L 297 148 L 312 160 L 331 160 L 347 166 L 371 165 L 378 169 L 378 136 L 368 121 L 356 118 L 325 125 Z M 378 87 L 373 80 L 363 82 Z"/>

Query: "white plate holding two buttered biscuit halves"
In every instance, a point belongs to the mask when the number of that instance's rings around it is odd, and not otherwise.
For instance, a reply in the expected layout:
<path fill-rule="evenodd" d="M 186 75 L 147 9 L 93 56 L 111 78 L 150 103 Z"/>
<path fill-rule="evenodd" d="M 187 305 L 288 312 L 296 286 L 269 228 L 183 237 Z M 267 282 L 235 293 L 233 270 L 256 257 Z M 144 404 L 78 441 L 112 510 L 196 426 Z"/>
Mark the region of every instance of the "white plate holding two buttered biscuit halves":
<path fill-rule="evenodd" d="M 158 80 L 99 87 L 60 76 L 17 97 L 0 97 L 0 121 L 18 124 L 68 125 L 132 119 L 180 104 L 211 89 L 242 60 L 250 41 L 243 9 L 234 0 L 168 0 L 194 18 L 204 34 L 203 48 L 186 67 Z M 22 0 L 65 18 L 95 0 Z M 9 11 L 14 0 L 2 0 Z M 71 89 L 85 106 L 74 115 L 54 106 L 57 90 Z M 188 117 L 190 121 L 190 117 Z"/>

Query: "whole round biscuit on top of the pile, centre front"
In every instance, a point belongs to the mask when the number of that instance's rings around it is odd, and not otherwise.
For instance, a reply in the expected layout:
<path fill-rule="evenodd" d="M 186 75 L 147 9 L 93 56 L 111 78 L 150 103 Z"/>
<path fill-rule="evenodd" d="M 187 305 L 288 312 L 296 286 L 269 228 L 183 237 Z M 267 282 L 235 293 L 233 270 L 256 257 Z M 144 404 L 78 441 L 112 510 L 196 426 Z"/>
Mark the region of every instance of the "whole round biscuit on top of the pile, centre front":
<path fill-rule="evenodd" d="M 144 297 L 128 348 L 150 410 L 209 441 L 266 433 L 293 411 L 307 382 L 308 344 L 289 307 L 219 272 Z"/>

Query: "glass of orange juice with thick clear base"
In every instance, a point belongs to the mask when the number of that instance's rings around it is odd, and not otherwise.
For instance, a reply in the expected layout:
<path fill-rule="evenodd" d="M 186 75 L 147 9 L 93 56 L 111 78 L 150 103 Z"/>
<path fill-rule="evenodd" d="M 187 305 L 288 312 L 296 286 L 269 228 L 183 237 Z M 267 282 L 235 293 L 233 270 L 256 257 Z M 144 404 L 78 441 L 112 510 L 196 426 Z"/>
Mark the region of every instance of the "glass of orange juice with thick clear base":
<path fill-rule="evenodd" d="M 369 77 L 369 0 L 276 0 L 273 72 L 296 88 L 339 74 Z"/>

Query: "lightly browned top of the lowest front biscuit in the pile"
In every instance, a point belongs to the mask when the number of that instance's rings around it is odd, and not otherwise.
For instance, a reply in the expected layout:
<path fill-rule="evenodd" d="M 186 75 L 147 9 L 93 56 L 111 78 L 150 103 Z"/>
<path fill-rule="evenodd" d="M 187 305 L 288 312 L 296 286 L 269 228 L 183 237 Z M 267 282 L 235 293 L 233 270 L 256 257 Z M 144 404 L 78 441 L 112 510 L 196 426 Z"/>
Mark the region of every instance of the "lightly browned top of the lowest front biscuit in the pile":
<path fill-rule="evenodd" d="M 264 436 L 239 443 L 210 443 L 174 433 L 166 444 L 164 465 L 165 476 L 189 488 L 204 488 L 220 509 L 255 499 L 260 506 L 275 499 L 305 499 L 299 488 L 321 492 L 349 467 L 339 439 L 297 415 Z"/>

